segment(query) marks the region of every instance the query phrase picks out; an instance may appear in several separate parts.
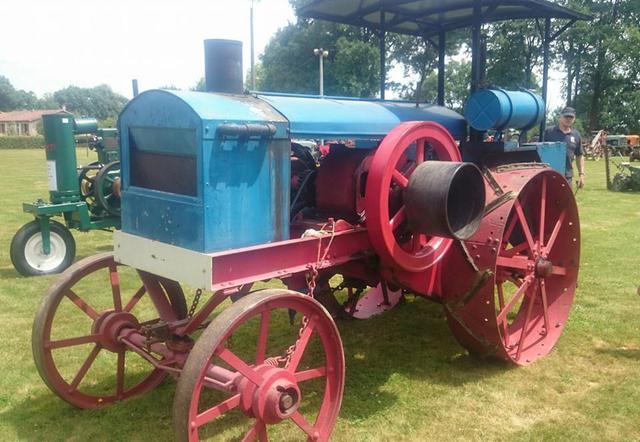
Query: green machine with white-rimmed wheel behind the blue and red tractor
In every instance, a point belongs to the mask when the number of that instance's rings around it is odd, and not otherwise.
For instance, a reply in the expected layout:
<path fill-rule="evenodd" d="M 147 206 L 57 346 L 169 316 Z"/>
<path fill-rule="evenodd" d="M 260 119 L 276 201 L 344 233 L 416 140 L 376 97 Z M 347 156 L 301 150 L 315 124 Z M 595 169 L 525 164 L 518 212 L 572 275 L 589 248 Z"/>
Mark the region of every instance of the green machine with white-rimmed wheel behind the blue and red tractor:
<path fill-rule="evenodd" d="M 61 113 L 42 117 L 49 202 L 24 203 L 34 220 L 11 241 L 11 262 L 25 276 L 58 273 L 71 265 L 75 240 L 69 229 L 87 232 L 120 226 L 120 162 L 116 129 L 99 129 L 92 118 Z M 98 161 L 77 168 L 74 136 L 91 136 Z M 63 216 L 65 224 L 52 220 Z"/>

